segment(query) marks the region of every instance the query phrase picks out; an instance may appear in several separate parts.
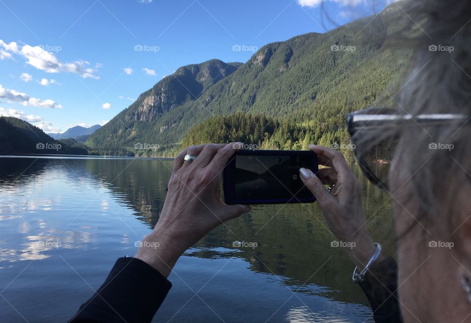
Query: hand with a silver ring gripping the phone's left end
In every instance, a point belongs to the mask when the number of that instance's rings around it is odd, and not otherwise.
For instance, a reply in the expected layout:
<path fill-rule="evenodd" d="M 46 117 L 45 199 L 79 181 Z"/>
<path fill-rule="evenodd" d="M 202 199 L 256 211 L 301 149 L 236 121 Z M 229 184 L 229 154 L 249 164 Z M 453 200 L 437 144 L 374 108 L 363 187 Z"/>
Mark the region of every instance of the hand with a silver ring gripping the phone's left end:
<path fill-rule="evenodd" d="M 187 248 L 219 224 L 250 211 L 248 205 L 228 205 L 219 198 L 220 174 L 237 150 L 231 143 L 191 146 L 180 152 L 157 225 L 135 258 L 168 276 Z M 184 161 L 186 154 L 197 158 Z"/>

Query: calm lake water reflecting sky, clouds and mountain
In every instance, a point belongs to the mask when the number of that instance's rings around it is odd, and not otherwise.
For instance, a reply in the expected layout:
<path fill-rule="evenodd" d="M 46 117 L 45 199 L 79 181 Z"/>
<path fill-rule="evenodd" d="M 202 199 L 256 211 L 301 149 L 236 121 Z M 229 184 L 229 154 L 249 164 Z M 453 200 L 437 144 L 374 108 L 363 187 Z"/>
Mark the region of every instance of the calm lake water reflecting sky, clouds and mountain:
<path fill-rule="evenodd" d="M 71 318 L 157 223 L 172 164 L 0 158 L 1 322 Z M 388 196 L 354 171 L 374 240 L 384 242 Z M 155 322 L 372 322 L 333 240 L 316 203 L 254 206 L 181 257 Z"/>

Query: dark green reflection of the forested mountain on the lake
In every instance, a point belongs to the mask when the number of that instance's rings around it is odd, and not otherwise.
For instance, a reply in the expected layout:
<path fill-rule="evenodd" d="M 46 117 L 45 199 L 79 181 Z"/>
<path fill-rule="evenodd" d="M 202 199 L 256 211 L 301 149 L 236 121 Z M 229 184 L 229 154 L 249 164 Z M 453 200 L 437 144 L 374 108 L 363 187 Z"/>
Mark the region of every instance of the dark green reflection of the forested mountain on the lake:
<path fill-rule="evenodd" d="M 111 166 L 104 160 L 88 160 L 86 167 L 90 174 L 110 183 L 117 196 L 126 197 L 124 202 L 137 211 L 138 219 L 154 227 L 165 200 L 171 161 L 120 160 Z M 358 166 L 353 171 L 361 183 L 373 238 L 384 241 L 384 237 L 393 236 L 389 195 L 370 183 Z M 343 250 L 331 248 L 333 240 L 317 203 L 255 205 L 250 213 L 214 229 L 187 254 L 201 258 L 241 257 L 250 263 L 252 271 L 288 277 L 288 285 L 301 282 L 329 286 L 330 290 L 325 291 L 329 297 L 366 303 L 358 287 L 348 283 L 351 262 Z M 235 241 L 257 242 L 258 247 L 235 248 Z M 393 253 L 394 244 L 386 244 L 385 249 Z M 309 293 L 309 289 L 301 291 Z"/>

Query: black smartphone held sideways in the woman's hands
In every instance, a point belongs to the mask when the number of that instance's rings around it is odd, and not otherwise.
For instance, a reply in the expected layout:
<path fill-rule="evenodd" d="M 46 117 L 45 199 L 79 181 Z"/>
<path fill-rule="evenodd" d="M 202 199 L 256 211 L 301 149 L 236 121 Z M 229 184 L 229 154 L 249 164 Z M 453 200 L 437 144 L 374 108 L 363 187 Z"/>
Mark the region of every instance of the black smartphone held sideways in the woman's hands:
<path fill-rule="evenodd" d="M 310 203 L 314 195 L 299 169 L 317 174 L 317 156 L 306 150 L 239 150 L 223 172 L 227 204 Z"/>

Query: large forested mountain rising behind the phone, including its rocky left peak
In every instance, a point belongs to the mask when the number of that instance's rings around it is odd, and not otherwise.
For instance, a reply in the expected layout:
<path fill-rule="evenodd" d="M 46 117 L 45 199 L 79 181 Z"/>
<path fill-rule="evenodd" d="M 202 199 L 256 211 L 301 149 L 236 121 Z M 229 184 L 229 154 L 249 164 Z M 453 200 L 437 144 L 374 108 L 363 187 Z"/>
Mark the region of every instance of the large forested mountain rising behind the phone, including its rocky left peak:
<path fill-rule="evenodd" d="M 289 118 L 312 129 L 313 142 L 327 141 L 344 129 L 347 113 L 393 105 L 389 94 L 403 84 L 412 57 L 396 37 L 414 28 L 393 3 L 374 19 L 265 45 L 240 66 L 219 60 L 184 66 L 142 93 L 86 145 L 106 154 L 174 155 L 192 127 L 237 111 Z M 154 149 L 134 149 L 143 144 Z"/>

